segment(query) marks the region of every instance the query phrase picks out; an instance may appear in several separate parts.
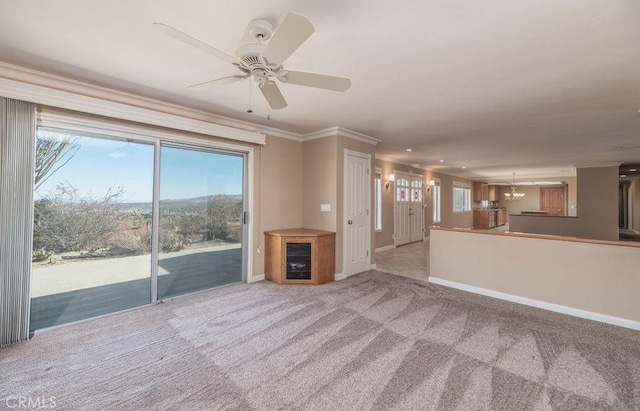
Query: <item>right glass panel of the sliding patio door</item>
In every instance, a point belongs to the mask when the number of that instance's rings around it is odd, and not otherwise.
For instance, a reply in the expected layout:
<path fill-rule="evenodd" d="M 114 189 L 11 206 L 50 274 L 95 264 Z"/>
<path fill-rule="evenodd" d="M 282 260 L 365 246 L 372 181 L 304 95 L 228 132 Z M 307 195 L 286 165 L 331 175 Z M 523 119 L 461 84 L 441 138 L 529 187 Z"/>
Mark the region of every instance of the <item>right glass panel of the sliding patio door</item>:
<path fill-rule="evenodd" d="M 163 145 L 158 298 L 241 281 L 242 155 Z"/>

